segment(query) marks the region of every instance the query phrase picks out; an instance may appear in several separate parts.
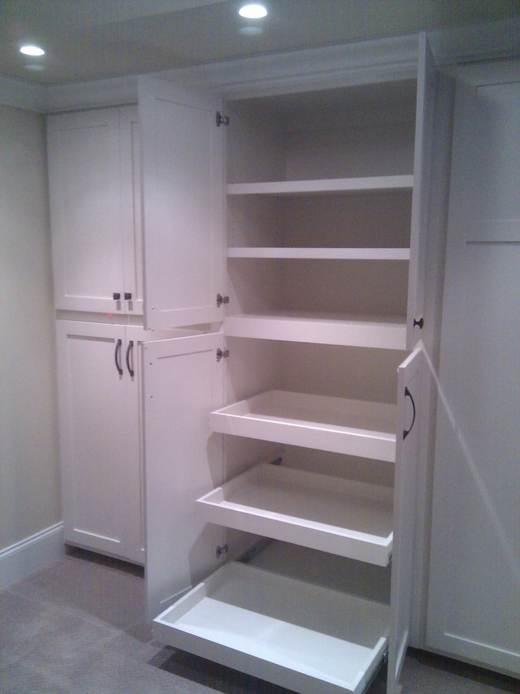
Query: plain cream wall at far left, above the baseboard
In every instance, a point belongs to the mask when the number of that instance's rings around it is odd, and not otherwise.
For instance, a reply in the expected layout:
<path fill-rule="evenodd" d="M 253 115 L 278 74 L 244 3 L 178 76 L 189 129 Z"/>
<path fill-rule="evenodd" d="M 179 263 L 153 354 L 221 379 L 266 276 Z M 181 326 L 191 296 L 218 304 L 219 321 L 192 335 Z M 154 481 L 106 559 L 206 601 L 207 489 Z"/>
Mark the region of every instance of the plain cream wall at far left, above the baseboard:
<path fill-rule="evenodd" d="M 1 559 L 61 519 L 45 124 L 4 105 L 0 296 Z"/>

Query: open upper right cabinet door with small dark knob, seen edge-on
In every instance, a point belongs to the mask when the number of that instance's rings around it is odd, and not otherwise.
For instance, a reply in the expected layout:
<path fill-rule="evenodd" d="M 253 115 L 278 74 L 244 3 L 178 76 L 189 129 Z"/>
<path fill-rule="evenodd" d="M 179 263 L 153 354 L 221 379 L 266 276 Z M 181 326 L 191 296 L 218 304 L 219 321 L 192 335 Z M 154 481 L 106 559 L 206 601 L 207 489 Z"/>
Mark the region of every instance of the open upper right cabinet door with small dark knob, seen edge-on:
<path fill-rule="evenodd" d="M 435 126 L 437 72 L 426 34 L 419 35 L 415 153 L 411 200 L 410 265 L 406 348 L 413 349 L 423 327 L 426 242 Z"/>

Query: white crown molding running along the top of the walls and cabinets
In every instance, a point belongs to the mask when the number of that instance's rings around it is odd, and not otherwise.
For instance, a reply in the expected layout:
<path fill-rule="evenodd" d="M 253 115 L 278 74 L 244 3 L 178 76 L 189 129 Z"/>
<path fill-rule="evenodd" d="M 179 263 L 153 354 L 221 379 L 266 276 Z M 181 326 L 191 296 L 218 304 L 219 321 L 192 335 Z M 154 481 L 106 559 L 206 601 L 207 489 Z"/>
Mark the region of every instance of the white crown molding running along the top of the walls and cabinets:
<path fill-rule="evenodd" d="M 519 28 L 515 17 L 428 32 L 428 39 L 437 63 L 451 66 L 519 55 Z M 417 55 L 418 34 L 408 34 L 226 60 L 153 76 L 233 99 L 409 79 L 416 75 Z M 136 101 L 137 75 L 51 85 L 0 76 L 0 103 L 31 111 L 52 113 Z"/>

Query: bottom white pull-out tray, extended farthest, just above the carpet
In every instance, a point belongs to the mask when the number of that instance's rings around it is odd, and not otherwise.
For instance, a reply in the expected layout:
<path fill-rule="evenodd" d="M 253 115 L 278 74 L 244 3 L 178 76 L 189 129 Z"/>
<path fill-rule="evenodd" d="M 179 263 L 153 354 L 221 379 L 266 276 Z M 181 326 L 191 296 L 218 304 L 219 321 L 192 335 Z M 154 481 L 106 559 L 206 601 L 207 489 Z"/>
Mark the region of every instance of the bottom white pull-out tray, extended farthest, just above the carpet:
<path fill-rule="evenodd" d="M 301 694 L 361 694 L 388 606 L 231 562 L 154 620 L 154 637 Z"/>

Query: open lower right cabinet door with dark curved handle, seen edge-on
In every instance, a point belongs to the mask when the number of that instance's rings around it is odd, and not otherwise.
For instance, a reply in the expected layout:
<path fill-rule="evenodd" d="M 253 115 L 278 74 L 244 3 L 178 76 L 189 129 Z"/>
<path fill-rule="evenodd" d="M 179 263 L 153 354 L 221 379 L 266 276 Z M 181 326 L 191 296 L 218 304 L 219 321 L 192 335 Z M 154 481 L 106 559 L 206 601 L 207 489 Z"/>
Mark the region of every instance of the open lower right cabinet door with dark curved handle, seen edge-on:
<path fill-rule="evenodd" d="M 388 640 L 388 694 L 399 692 L 408 646 L 413 585 L 417 462 L 420 442 L 423 351 L 414 350 L 397 369 L 397 441 L 394 479 L 394 544 Z"/>

